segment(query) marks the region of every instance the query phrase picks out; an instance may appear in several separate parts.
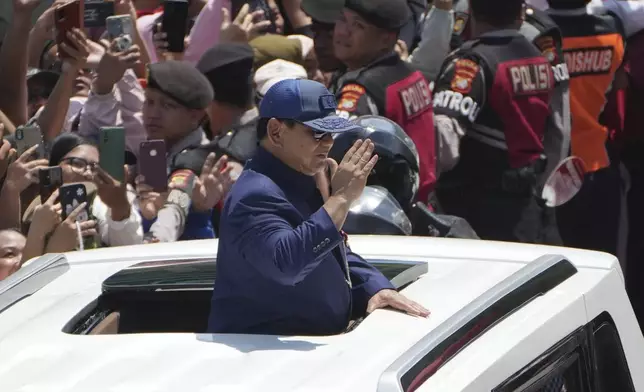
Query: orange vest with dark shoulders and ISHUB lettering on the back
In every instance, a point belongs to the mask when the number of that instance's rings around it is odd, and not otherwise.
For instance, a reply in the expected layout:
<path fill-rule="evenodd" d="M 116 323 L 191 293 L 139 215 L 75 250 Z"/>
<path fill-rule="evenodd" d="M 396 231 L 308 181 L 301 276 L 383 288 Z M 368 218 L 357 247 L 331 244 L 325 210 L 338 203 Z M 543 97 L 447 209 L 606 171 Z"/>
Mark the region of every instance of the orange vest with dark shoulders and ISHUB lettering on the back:
<path fill-rule="evenodd" d="M 594 172 L 610 165 L 608 130 L 599 116 L 624 59 L 620 21 L 611 14 L 589 15 L 585 8 L 548 12 L 564 37 L 570 73 L 571 153 L 584 161 L 586 172 Z"/>

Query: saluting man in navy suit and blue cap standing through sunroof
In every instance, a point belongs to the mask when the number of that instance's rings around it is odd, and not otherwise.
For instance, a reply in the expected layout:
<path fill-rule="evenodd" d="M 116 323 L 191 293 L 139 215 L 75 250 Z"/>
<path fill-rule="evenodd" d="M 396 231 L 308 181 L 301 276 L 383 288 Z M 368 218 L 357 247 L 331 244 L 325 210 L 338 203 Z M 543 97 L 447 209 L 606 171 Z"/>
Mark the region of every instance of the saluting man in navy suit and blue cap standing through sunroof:
<path fill-rule="evenodd" d="M 350 320 L 393 307 L 429 312 L 352 253 L 341 229 L 378 157 L 358 141 L 338 165 L 335 115 L 320 83 L 284 80 L 260 105 L 260 147 L 222 211 L 209 332 L 330 335 Z"/>

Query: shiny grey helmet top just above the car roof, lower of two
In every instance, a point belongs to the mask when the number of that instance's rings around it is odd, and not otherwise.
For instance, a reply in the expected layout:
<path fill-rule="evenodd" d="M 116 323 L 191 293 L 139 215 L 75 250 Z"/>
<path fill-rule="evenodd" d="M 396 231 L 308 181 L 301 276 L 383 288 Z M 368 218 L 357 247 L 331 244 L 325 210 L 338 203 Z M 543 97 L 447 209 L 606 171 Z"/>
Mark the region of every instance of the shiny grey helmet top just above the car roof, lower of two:
<path fill-rule="evenodd" d="M 411 222 L 383 187 L 367 186 L 351 204 L 342 226 L 347 234 L 411 235 Z"/>

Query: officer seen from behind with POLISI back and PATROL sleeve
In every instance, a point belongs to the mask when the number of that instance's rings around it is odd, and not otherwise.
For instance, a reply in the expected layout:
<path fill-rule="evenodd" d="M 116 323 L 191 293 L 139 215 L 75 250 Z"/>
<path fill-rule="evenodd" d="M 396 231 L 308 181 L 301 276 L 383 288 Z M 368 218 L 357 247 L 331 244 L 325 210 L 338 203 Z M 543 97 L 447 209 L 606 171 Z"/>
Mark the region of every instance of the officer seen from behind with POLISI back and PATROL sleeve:
<path fill-rule="evenodd" d="M 493 4 L 493 6 L 492 6 Z M 445 61 L 434 88 L 438 201 L 483 239 L 557 243 L 536 194 L 554 76 L 519 33 L 522 0 L 471 0 L 474 40 Z"/>

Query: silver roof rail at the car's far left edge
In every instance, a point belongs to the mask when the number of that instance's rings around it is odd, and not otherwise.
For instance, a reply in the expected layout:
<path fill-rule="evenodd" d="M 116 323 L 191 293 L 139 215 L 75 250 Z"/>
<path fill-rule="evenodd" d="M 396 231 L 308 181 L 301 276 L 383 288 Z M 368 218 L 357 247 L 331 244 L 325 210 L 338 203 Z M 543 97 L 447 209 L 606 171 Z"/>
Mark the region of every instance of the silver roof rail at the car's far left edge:
<path fill-rule="evenodd" d="M 46 254 L 0 281 L 0 313 L 34 294 L 69 270 L 64 254 Z"/>

